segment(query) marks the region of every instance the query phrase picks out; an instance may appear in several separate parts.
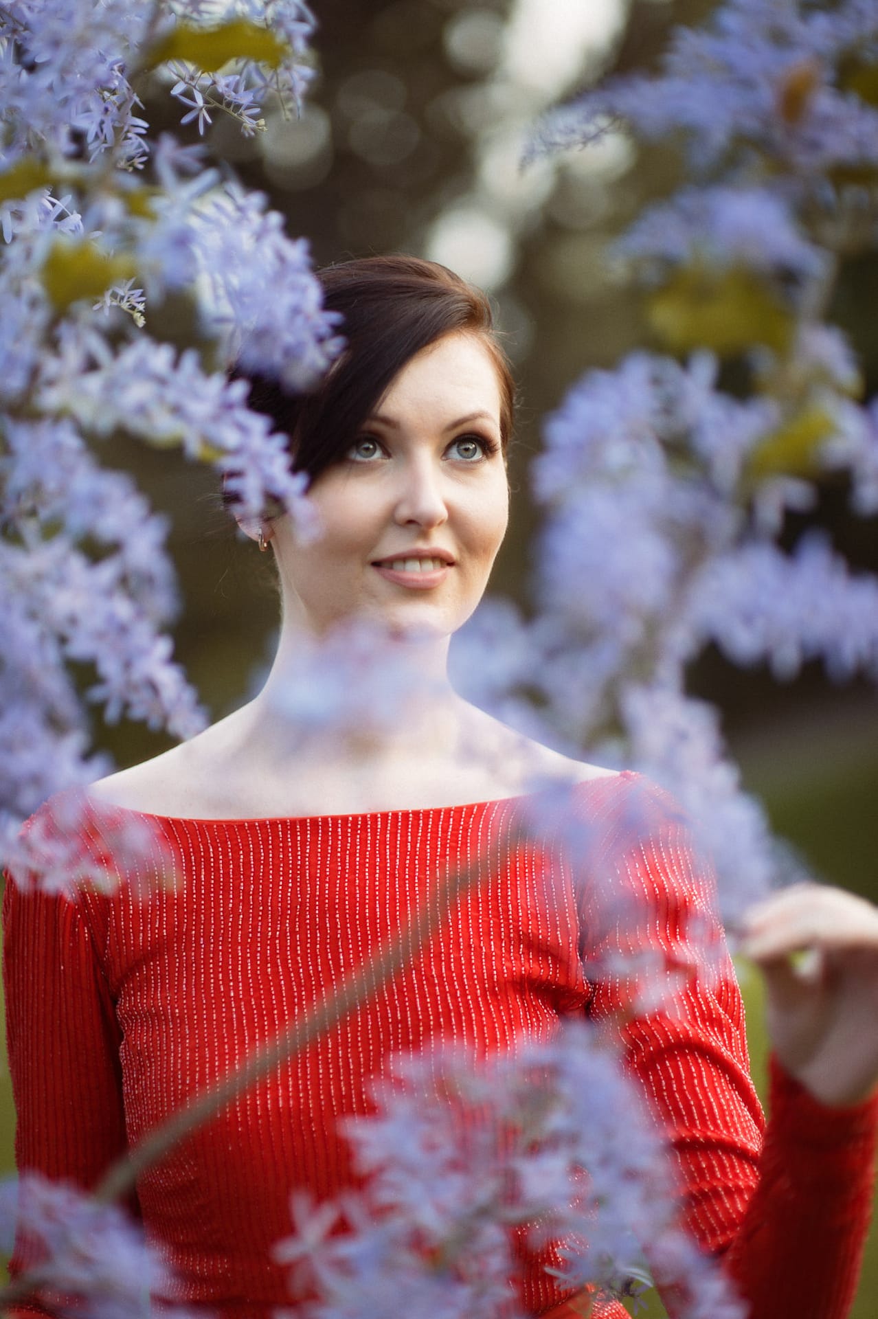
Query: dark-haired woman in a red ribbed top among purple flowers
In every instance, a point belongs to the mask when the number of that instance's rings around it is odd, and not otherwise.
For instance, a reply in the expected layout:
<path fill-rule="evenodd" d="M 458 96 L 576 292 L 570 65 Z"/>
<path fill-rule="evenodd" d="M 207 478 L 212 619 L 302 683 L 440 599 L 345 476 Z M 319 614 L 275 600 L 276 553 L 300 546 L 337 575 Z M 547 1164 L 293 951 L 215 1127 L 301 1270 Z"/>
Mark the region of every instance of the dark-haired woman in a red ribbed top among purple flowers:
<path fill-rule="evenodd" d="M 403 257 L 322 280 L 345 352 L 305 400 L 252 388 L 290 435 L 322 526 L 308 538 L 287 516 L 244 524 L 278 572 L 269 678 L 190 743 L 91 790 L 108 819 L 156 823 L 177 888 L 142 905 L 129 886 L 73 905 L 11 884 L 4 907 L 18 1163 L 92 1186 L 128 1142 L 366 963 L 439 874 L 476 868 L 422 958 L 140 1179 L 137 1210 L 182 1297 L 228 1316 L 289 1304 L 270 1258 L 289 1192 L 351 1184 L 336 1121 L 365 1111 L 389 1053 L 452 1034 L 486 1055 L 551 1037 L 563 1016 L 608 1018 L 626 987 L 601 967 L 622 944 L 670 958 L 689 915 L 715 919 L 660 794 L 513 733 L 448 682 L 450 637 L 481 599 L 508 521 L 513 385 L 484 297 Z M 389 723 L 311 725 L 290 700 L 302 653 L 352 624 L 392 640 L 394 674 L 418 699 Z M 515 842 L 531 786 L 547 781 L 573 785 L 571 811 L 633 902 L 621 933 L 551 842 Z M 631 840 L 637 793 L 650 827 Z M 804 979 L 788 962 L 803 947 L 823 959 Z M 800 888 L 751 913 L 745 951 L 770 995 L 765 1144 L 728 959 L 672 1009 L 629 1017 L 629 1066 L 668 1129 L 688 1224 L 751 1314 L 841 1319 L 870 1202 L 878 913 Z M 21 1244 L 13 1270 L 26 1264 Z M 537 1261 L 519 1289 L 534 1314 L 580 1312 Z"/>

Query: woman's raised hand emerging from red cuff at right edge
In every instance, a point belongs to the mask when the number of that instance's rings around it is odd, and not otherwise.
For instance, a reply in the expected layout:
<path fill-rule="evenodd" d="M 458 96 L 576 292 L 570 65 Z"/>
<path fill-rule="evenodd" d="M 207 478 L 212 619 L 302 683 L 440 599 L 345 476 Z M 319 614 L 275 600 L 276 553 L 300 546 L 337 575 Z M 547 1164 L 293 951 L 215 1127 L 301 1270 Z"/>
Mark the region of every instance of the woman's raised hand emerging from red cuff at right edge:
<path fill-rule="evenodd" d="M 823 1104 L 867 1099 L 878 1086 L 878 907 L 795 884 L 746 913 L 740 951 L 765 975 L 786 1070 Z"/>

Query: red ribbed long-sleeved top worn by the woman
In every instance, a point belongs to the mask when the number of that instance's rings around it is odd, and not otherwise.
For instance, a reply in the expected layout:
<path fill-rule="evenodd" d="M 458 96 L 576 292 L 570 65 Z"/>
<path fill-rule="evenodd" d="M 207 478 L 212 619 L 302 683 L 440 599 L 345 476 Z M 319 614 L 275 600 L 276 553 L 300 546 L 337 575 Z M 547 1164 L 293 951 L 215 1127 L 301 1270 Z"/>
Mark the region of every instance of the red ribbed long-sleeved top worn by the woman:
<path fill-rule="evenodd" d="M 635 838 L 634 791 L 653 815 Z M 352 1183 L 336 1120 L 368 1111 L 365 1082 L 388 1054 L 442 1038 L 505 1053 L 551 1038 L 564 1016 L 625 1008 L 629 1064 L 667 1126 L 691 1231 L 724 1256 L 753 1319 L 842 1319 L 869 1219 L 875 1104 L 825 1109 L 775 1067 L 763 1149 L 730 964 L 695 984 L 680 956 L 693 917 L 707 947 L 718 935 L 679 819 L 637 776 L 580 785 L 575 814 L 596 874 L 612 873 L 608 906 L 605 878 L 573 884 L 560 836 L 514 843 L 523 802 L 157 818 L 177 884 L 148 901 L 124 882 L 75 904 L 8 882 L 20 1169 L 92 1186 L 127 1142 L 368 962 L 452 869 L 475 863 L 479 882 L 413 966 L 141 1178 L 138 1212 L 181 1299 L 229 1319 L 290 1304 L 270 1258 L 290 1232 L 290 1190 L 323 1198 Z M 631 1012 L 618 969 L 631 952 L 680 972 L 671 1006 Z M 20 1244 L 13 1274 L 26 1265 Z M 525 1261 L 522 1287 L 534 1314 L 563 1303 L 538 1260 Z"/>

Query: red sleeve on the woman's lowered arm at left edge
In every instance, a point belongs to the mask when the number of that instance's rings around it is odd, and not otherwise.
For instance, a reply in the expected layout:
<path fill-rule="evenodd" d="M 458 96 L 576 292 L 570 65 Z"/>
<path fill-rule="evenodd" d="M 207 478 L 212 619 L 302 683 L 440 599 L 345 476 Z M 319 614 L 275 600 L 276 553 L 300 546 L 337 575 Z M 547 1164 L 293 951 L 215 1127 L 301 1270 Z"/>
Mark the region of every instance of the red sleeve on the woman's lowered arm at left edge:
<path fill-rule="evenodd" d="M 91 1188 L 124 1151 L 125 1121 L 120 1031 L 84 911 L 8 878 L 3 927 L 18 1170 Z M 18 1235 L 11 1274 L 33 1262 Z"/>

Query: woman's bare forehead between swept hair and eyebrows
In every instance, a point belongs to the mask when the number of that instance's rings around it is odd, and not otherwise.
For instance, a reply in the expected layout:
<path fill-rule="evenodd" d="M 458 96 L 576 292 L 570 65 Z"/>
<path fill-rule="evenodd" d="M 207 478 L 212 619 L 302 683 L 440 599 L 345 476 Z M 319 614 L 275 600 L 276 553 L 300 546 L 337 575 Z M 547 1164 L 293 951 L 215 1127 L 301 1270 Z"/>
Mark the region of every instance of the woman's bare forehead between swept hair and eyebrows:
<path fill-rule="evenodd" d="M 459 417 L 488 412 L 500 423 L 500 381 L 484 343 L 469 334 L 451 334 L 427 344 L 390 381 L 376 412 L 421 412 Z"/>

